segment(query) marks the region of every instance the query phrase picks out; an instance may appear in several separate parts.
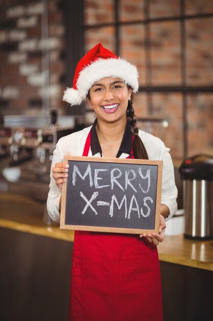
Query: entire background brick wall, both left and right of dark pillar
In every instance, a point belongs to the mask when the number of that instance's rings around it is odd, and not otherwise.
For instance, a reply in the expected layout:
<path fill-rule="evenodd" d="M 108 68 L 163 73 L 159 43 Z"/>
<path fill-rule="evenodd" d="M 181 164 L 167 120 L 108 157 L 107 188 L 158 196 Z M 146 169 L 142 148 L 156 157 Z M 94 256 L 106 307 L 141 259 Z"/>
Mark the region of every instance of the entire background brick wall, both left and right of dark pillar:
<path fill-rule="evenodd" d="M 64 113 L 67 107 L 61 101 L 66 73 L 63 3 L 63 0 L 48 1 L 49 39 L 44 42 L 44 46 L 48 44 L 49 48 L 48 102 L 50 109 L 57 108 L 59 113 Z M 119 3 L 120 55 L 137 65 L 139 85 L 143 88 L 148 85 L 181 86 L 184 81 L 181 72 L 181 24 L 178 19 L 170 20 L 171 17 L 180 15 L 181 2 L 150 0 L 148 8 L 142 0 L 120 0 Z M 84 21 L 87 26 L 85 51 L 102 42 L 115 52 L 114 0 L 85 0 L 84 4 Z M 185 0 L 184 4 L 188 15 L 213 14 L 213 2 L 210 0 Z M 42 99 L 45 99 L 42 92 L 43 10 L 41 1 L 0 1 L 0 107 L 3 114 L 42 111 Z M 149 18 L 167 17 L 168 21 L 155 21 L 147 25 L 139 23 L 147 17 L 146 14 Z M 93 28 L 96 24 L 101 26 Z M 146 51 L 147 27 L 150 37 L 149 54 Z M 213 89 L 212 30 L 211 16 L 185 20 L 187 86 L 211 86 Z M 187 120 L 187 154 L 213 154 L 211 92 L 188 93 L 185 110 L 181 92 L 139 92 L 134 97 L 134 108 L 138 117 L 152 114 L 168 119 L 168 128 L 159 124 L 150 126 L 149 123 L 140 124 L 140 128 L 160 136 L 171 148 L 174 157 L 183 157 L 184 112 Z"/>

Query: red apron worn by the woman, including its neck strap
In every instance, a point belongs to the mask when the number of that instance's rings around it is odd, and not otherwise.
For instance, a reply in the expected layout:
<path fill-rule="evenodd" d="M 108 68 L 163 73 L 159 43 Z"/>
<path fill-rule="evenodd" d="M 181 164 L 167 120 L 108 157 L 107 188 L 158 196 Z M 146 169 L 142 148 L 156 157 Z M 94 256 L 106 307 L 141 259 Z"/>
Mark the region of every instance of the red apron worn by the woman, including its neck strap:
<path fill-rule="evenodd" d="M 83 156 L 89 148 L 90 133 Z M 163 321 L 156 246 L 139 235 L 75 231 L 69 320 Z"/>

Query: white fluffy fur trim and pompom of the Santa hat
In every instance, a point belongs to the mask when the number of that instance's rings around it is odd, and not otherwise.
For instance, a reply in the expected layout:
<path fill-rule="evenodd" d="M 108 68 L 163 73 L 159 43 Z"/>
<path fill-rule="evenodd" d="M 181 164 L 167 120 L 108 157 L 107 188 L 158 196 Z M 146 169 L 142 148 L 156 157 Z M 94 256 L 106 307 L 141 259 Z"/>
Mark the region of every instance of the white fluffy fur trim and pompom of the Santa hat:
<path fill-rule="evenodd" d="M 76 84 L 77 90 L 67 88 L 64 91 L 63 101 L 72 106 L 80 105 L 85 101 L 91 86 L 105 77 L 120 78 L 132 88 L 134 93 L 138 91 L 138 71 L 134 65 L 123 58 L 99 58 L 80 71 Z"/>

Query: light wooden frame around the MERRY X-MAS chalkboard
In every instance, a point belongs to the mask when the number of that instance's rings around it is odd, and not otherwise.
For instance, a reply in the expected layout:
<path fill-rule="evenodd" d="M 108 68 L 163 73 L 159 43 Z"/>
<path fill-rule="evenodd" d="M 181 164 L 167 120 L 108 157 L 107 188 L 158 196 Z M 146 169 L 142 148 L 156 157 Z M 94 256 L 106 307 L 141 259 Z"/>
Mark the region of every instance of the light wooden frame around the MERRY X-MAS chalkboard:
<path fill-rule="evenodd" d="M 118 163 L 118 164 L 138 164 L 138 165 L 156 165 L 157 166 L 157 184 L 156 184 L 156 206 L 155 206 L 155 227 L 154 229 L 135 229 L 135 228 L 118 228 L 118 227 L 103 227 L 103 226 L 85 226 L 85 225 L 68 225 L 65 224 L 66 219 L 66 190 L 67 184 L 62 185 L 61 196 L 61 217 L 60 228 L 65 230 L 78 231 L 93 231 L 93 232 L 113 232 L 113 233 L 129 233 L 129 234 L 143 234 L 143 233 L 159 233 L 160 225 L 160 204 L 161 204 L 161 186 L 162 186 L 162 160 L 147 160 L 147 159 L 132 159 L 132 158 L 105 158 L 105 157 L 85 157 L 85 156 L 71 156 L 64 155 L 64 163 L 68 161 L 76 162 L 100 162 L 100 163 Z"/>

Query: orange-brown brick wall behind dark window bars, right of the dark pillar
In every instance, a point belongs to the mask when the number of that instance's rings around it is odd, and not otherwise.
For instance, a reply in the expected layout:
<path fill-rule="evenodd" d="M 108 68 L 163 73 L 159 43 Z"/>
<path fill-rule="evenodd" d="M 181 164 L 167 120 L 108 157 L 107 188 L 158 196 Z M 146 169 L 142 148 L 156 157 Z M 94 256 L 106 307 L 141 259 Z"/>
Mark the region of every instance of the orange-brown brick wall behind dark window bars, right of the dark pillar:
<path fill-rule="evenodd" d="M 115 51 L 114 1 L 108 0 L 105 7 L 98 0 L 85 0 L 86 50 L 98 42 Z M 118 22 L 120 55 L 139 71 L 139 85 L 181 87 L 211 86 L 213 92 L 213 16 L 185 19 L 185 68 L 182 73 L 181 1 L 141 0 L 119 1 Z M 186 15 L 213 15 L 210 0 L 185 0 Z M 101 10 L 105 11 L 103 18 Z M 88 14 L 89 13 L 89 14 Z M 92 19 L 91 19 L 92 17 Z M 159 21 L 166 17 L 167 21 Z M 147 24 L 140 23 L 145 18 L 158 19 Z M 97 29 L 90 25 L 105 24 Z M 94 26 L 93 26 L 94 27 Z M 148 28 L 148 31 L 146 31 Z M 148 38 L 147 38 L 148 36 Z M 146 52 L 147 46 L 150 50 Z M 183 157 L 184 144 L 187 155 L 204 152 L 213 154 L 213 93 L 197 92 L 186 94 L 186 105 L 181 91 L 140 92 L 134 97 L 134 109 L 138 117 L 151 114 L 168 120 L 168 128 L 158 123 L 140 123 L 140 128 L 158 135 L 171 148 L 173 157 Z M 185 110 L 184 110 L 185 108 Z M 183 114 L 186 114 L 186 142 L 184 143 Z"/>

